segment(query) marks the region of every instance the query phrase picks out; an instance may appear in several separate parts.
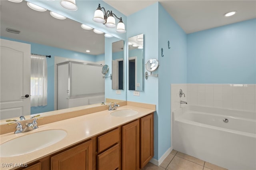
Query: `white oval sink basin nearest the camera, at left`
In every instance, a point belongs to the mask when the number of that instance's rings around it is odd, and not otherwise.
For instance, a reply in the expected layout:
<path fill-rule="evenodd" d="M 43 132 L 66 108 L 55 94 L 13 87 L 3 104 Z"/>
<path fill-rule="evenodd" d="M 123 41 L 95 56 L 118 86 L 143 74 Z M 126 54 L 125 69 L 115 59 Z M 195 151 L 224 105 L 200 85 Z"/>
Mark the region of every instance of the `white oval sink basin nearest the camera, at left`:
<path fill-rule="evenodd" d="M 67 135 L 64 130 L 45 130 L 14 138 L 0 145 L 0 157 L 27 154 L 50 146 Z"/>

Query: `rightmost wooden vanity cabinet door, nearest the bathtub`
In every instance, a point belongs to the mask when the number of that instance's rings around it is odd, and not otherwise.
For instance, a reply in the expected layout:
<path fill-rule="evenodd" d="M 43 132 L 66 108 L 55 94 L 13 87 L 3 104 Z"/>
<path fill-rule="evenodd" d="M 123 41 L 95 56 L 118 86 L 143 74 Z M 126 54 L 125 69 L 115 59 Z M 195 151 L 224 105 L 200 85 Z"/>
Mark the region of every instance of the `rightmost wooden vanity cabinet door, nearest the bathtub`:
<path fill-rule="evenodd" d="M 140 168 L 143 168 L 154 156 L 154 120 L 153 113 L 140 119 Z"/>

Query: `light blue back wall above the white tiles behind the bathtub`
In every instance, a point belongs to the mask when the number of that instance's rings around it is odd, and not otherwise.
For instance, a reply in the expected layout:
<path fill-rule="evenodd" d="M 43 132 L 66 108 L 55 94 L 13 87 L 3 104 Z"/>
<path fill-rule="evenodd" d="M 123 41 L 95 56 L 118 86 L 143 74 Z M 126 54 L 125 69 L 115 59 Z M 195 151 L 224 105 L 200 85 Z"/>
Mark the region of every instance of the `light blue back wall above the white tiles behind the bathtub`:
<path fill-rule="evenodd" d="M 188 83 L 256 83 L 256 19 L 187 38 Z"/>

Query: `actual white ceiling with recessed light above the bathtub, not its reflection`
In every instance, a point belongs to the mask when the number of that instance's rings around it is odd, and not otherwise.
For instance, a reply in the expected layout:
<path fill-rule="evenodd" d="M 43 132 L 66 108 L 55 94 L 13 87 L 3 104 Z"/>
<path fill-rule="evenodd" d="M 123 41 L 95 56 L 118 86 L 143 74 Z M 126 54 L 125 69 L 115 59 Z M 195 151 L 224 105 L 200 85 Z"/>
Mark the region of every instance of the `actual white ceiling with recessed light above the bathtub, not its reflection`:
<path fill-rule="evenodd" d="M 126 16 L 160 2 L 187 34 L 256 18 L 256 0 L 104 0 L 104 2 Z M 234 10 L 237 11 L 234 16 L 224 17 L 226 12 Z"/>

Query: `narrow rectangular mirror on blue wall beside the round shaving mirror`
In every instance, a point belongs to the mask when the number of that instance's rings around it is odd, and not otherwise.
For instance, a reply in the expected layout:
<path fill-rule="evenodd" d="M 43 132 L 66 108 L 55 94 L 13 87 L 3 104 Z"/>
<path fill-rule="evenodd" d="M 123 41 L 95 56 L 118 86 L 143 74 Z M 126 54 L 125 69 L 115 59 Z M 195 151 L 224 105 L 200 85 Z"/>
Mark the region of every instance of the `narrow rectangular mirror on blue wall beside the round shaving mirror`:
<path fill-rule="evenodd" d="M 129 90 L 143 91 L 143 34 L 128 39 L 129 45 Z"/>

